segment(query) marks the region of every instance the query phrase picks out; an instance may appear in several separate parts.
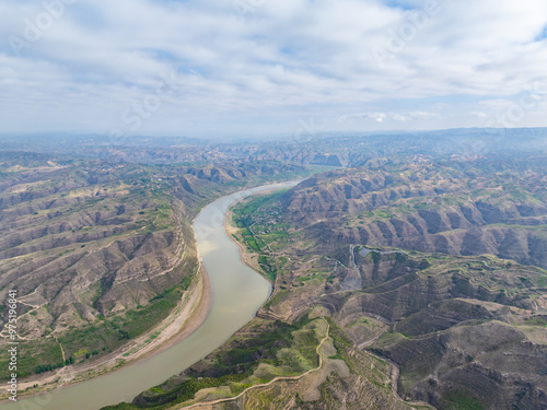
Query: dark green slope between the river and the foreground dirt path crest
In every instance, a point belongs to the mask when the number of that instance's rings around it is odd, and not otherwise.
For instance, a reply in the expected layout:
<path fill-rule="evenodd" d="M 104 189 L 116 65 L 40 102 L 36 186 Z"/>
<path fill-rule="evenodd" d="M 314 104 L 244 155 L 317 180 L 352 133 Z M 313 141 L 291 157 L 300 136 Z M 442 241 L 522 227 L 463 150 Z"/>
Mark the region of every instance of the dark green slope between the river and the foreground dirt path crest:
<path fill-rule="evenodd" d="M 194 399 L 205 388 L 228 386 L 231 395 L 236 396 L 275 376 L 301 374 L 318 364 L 316 348 L 323 337 L 321 324 L 321 319 L 303 319 L 294 325 L 255 319 L 224 347 L 186 371 L 185 380 L 175 385 L 167 380 L 141 395 L 146 405 L 123 403 L 103 410 L 166 409 Z M 206 373 L 214 376 L 206 377 Z"/>

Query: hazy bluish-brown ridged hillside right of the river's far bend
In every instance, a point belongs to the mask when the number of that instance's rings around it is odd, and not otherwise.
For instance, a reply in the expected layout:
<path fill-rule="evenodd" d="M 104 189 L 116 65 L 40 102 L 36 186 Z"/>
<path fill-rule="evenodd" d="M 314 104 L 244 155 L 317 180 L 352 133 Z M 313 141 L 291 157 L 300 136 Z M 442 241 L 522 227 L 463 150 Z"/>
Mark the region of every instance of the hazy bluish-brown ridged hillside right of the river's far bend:
<path fill-rule="evenodd" d="M 325 251 L 363 244 L 492 254 L 547 268 L 546 176 L 536 171 L 478 174 L 432 164 L 340 171 L 306 180 L 281 201 Z"/>

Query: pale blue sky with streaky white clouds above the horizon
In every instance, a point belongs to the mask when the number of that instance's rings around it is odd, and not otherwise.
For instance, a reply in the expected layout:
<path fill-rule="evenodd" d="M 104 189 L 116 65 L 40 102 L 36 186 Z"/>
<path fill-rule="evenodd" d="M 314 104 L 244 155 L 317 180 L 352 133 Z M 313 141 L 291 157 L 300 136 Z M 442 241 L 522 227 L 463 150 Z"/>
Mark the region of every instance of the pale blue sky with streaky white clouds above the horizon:
<path fill-rule="evenodd" d="M 0 0 L 0 133 L 547 126 L 545 0 Z"/>

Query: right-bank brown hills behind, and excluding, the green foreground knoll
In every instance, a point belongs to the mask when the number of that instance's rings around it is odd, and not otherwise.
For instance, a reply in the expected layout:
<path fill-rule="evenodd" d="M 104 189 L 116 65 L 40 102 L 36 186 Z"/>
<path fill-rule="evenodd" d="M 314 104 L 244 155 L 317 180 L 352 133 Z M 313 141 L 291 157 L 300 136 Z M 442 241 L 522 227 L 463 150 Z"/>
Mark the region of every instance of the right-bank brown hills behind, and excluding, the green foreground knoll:
<path fill-rule="evenodd" d="M 241 241 L 276 278 L 263 316 L 321 309 L 399 367 L 407 399 L 547 407 L 544 163 L 415 157 L 242 206 Z"/>

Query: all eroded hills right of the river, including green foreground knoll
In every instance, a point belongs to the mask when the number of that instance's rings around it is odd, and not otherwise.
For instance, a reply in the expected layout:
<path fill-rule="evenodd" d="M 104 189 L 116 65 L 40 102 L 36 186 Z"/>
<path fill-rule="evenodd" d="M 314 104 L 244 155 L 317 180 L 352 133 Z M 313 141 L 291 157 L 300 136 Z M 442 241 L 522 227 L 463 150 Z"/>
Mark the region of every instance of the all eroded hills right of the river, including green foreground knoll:
<path fill-rule="evenodd" d="M 234 237 L 272 297 L 205 361 L 113 409 L 547 407 L 544 164 L 416 155 L 240 203 Z M 321 336 L 296 335 L 318 317 L 328 344 L 306 374 Z"/>

